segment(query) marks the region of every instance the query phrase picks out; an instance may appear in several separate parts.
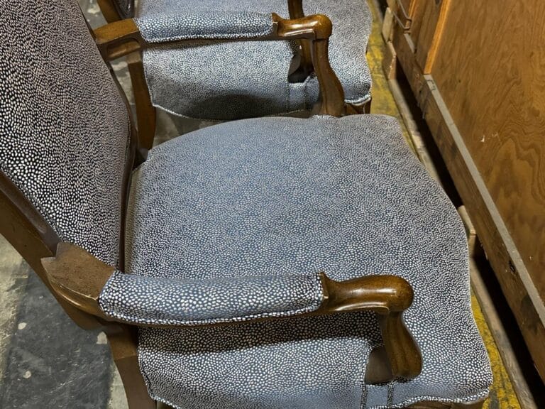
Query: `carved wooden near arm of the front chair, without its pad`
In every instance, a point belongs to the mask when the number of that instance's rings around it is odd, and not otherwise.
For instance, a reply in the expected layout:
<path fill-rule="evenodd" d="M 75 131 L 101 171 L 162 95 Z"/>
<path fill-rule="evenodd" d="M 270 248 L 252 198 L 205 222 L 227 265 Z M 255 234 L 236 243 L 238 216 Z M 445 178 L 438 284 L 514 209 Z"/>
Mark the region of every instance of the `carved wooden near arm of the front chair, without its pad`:
<path fill-rule="evenodd" d="M 74 244 L 60 243 L 52 258 L 42 258 L 42 266 L 58 298 L 105 322 L 134 322 L 106 316 L 99 307 L 99 295 L 116 268 L 99 261 Z M 422 358 L 407 327 L 402 312 L 412 304 L 412 288 L 397 276 L 369 276 L 348 281 L 334 281 L 321 273 L 323 301 L 314 312 L 324 315 L 370 310 L 379 317 L 382 339 L 389 367 L 384 381 L 392 377 L 414 378 L 422 369 Z M 269 318 L 275 319 L 275 318 Z M 148 325 L 150 327 L 179 327 Z"/>

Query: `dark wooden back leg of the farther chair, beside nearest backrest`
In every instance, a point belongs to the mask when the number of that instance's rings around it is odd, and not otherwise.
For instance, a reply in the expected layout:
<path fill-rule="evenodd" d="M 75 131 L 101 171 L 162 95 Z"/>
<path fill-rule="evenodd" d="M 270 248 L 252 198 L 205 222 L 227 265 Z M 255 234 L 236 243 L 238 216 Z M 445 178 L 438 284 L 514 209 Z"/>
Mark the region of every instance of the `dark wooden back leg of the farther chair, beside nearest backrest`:
<path fill-rule="evenodd" d="M 156 113 L 155 107 L 151 104 L 148 83 L 145 81 L 142 57 L 140 53 L 132 53 L 127 55 L 126 60 L 136 104 L 138 140 L 142 148 L 150 149 L 155 138 Z"/>

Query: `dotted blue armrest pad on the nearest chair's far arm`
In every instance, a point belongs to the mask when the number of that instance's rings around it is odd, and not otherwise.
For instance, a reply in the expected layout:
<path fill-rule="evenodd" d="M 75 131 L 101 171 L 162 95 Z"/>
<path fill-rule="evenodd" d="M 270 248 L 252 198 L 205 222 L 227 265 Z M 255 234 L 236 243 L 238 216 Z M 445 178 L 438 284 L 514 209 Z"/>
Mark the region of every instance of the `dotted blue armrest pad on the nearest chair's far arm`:
<path fill-rule="evenodd" d="M 260 38 L 272 33 L 272 16 L 264 13 L 209 11 L 156 13 L 136 19 L 148 43 L 211 38 Z"/>

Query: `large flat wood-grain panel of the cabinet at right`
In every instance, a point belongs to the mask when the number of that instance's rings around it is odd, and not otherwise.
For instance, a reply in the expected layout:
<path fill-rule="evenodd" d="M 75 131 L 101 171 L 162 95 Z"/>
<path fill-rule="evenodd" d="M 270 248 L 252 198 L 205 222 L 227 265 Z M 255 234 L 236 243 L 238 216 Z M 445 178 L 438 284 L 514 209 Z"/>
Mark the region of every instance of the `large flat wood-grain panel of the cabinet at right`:
<path fill-rule="evenodd" d="M 431 75 L 545 299 L 545 1 L 453 3 Z"/>

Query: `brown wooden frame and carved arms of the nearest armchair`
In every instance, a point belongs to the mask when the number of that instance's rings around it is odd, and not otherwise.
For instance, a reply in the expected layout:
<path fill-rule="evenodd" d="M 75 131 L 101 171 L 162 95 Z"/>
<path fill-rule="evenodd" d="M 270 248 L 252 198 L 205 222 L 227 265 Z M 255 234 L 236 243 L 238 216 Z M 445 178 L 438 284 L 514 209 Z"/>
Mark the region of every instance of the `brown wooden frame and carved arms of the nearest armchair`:
<path fill-rule="evenodd" d="M 346 113 L 343 89 L 329 65 L 327 50 L 331 21 L 325 16 L 308 16 L 284 20 L 274 15 L 275 31 L 270 40 L 309 40 L 314 72 L 319 79 L 321 103 L 319 114 L 341 116 Z M 94 32 L 97 45 L 106 60 L 139 52 L 148 46 L 133 20 L 116 21 Z M 119 84 L 118 84 L 119 86 Z M 119 87 L 120 93 L 124 96 Z M 125 100 L 127 109 L 128 103 Z M 128 109 L 130 115 L 130 109 Z M 132 118 L 131 118 L 132 124 Z M 124 220 L 131 172 L 143 161 L 145 149 L 139 146 L 138 133 L 131 126 L 126 168 L 123 174 Z M 74 322 L 84 329 L 100 328 L 106 333 L 111 352 L 125 387 L 130 409 L 152 409 L 156 403 L 148 395 L 138 366 L 137 327 L 106 317 L 98 304 L 106 280 L 116 268 L 107 266 L 83 249 L 63 243 L 16 185 L 0 171 L 0 234 L 21 253 L 33 270 Z M 123 231 L 119 232 L 120 261 L 123 270 Z M 310 315 L 334 314 L 369 310 L 379 317 L 384 340 L 382 349 L 375 349 L 368 364 L 368 383 L 382 383 L 396 377 L 414 378 L 422 369 L 417 344 L 405 327 L 402 312 L 412 304 L 413 292 L 407 281 L 397 276 L 370 276 L 344 282 L 321 275 L 324 301 Z M 270 318 L 280 319 L 280 318 Z M 283 318 L 289 319 L 289 318 Z M 242 325 L 236 323 L 232 325 Z M 171 326 L 160 326 L 170 327 Z M 480 408 L 475 405 L 443 405 L 420 403 L 412 408 Z"/>

